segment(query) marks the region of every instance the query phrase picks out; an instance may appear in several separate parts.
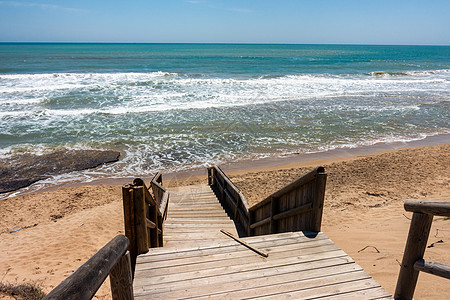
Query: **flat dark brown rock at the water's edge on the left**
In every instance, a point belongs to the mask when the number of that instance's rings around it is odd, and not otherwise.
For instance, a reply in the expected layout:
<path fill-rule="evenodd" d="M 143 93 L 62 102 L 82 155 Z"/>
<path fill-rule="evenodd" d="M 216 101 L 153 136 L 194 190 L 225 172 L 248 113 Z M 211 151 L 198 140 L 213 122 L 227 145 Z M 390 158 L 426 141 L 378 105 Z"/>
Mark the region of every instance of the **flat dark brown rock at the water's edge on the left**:
<path fill-rule="evenodd" d="M 119 160 L 120 152 L 60 150 L 44 155 L 17 155 L 0 160 L 0 193 L 7 193 L 54 175 L 95 168 Z"/>

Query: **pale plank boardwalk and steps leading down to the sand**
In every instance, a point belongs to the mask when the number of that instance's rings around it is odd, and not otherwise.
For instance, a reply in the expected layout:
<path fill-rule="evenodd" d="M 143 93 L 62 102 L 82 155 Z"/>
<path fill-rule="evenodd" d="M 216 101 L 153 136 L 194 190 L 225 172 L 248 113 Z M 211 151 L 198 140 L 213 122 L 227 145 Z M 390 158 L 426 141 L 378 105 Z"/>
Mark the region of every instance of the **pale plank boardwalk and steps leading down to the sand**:
<path fill-rule="evenodd" d="M 164 247 L 136 261 L 136 299 L 392 298 L 325 234 L 247 237 L 267 258 L 220 232 L 234 223 L 207 185 L 171 189 Z"/>

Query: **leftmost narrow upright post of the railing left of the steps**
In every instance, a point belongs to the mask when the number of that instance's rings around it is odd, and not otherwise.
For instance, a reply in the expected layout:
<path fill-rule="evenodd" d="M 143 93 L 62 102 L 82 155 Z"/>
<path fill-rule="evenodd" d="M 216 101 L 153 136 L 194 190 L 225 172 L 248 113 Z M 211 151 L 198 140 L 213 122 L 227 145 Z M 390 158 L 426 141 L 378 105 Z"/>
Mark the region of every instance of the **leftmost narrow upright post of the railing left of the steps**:
<path fill-rule="evenodd" d="M 134 268 L 136 266 L 137 245 L 136 245 L 136 231 L 134 227 L 134 201 L 133 201 L 133 187 L 124 185 L 122 187 L 123 198 L 123 217 L 125 224 L 125 235 L 130 241 L 128 251 L 131 256 L 131 271 L 134 277 Z"/>

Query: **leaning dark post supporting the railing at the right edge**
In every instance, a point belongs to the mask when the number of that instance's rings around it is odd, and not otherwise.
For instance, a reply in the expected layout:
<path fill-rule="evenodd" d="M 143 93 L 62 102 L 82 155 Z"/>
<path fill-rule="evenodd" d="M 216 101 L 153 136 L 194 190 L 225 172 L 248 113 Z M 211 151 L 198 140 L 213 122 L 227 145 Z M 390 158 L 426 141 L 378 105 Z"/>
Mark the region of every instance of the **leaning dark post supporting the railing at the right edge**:
<path fill-rule="evenodd" d="M 423 258 L 432 222 L 432 215 L 418 212 L 413 214 L 395 289 L 395 299 L 413 298 L 419 277 L 419 271 L 414 268 L 414 264 Z"/>

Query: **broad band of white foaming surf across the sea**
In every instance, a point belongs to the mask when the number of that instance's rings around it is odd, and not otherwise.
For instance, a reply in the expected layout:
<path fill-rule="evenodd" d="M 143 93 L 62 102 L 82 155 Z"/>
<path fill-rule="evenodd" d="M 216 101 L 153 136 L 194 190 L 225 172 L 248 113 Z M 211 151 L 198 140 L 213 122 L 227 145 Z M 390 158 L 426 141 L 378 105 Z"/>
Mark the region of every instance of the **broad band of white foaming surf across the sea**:
<path fill-rule="evenodd" d="M 297 74 L 244 79 L 164 72 L 3 75 L 0 117 L 121 115 L 285 101 L 307 103 L 333 97 L 448 98 L 450 70 L 411 74 L 381 78 Z"/>

